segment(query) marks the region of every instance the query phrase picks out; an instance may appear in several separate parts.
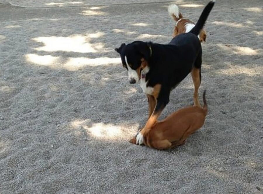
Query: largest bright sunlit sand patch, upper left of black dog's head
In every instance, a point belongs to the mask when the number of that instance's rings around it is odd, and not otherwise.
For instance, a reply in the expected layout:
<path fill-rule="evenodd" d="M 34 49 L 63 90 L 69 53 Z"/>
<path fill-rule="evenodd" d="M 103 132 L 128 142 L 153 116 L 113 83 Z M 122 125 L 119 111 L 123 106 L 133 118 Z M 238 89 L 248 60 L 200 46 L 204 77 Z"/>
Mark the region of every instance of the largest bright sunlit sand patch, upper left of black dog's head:
<path fill-rule="evenodd" d="M 35 48 L 37 51 L 71 51 L 79 53 L 95 53 L 96 50 L 92 44 L 86 42 L 87 38 L 87 36 L 83 35 L 72 35 L 69 37 L 37 37 L 33 38 L 33 40 L 36 42 L 42 42 L 44 44 L 43 47 Z"/>

